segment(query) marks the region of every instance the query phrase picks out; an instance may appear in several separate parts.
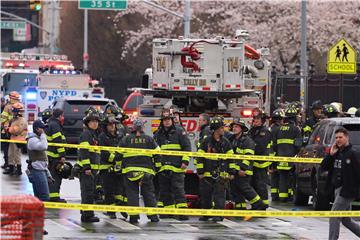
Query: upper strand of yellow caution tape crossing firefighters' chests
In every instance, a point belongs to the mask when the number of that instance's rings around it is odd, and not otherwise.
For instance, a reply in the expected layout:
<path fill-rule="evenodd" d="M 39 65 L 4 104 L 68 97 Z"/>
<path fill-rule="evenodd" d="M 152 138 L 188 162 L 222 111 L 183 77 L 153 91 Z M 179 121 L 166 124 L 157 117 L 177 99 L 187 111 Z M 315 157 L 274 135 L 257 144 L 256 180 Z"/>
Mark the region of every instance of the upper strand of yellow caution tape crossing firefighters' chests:
<path fill-rule="evenodd" d="M 0 142 L 21 143 L 26 144 L 26 141 L 0 139 Z M 249 160 L 249 161 L 272 161 L 272 162 L 294 162 L 294 163 L 321 163 L 321 158 L 304 158 L 304 157 L 279 157 L 279 156 L 259 156 L 259 155 L 239 155 L 239 154 L 222 154 L 222 153 L 199 153 L 199 152 L 185 152 L 185 151 L 164 151 L 164 150 L 151 150 L 139 148 L 123 148 L 123 147 L 108 147 L 108 146 L 91 146 L 79 144 L 66 144 L 66 143 L 48 143 L 49 146 L 76 148 L 76 149 L 91 149 L 114 151 L 118 153 L 144 153 L 154 155 L 167 155 L 167 156 L 188 156 L 188 157 L 203 157 L 210 160 L 217 159 L 236 159 L 236 160 Z"/>

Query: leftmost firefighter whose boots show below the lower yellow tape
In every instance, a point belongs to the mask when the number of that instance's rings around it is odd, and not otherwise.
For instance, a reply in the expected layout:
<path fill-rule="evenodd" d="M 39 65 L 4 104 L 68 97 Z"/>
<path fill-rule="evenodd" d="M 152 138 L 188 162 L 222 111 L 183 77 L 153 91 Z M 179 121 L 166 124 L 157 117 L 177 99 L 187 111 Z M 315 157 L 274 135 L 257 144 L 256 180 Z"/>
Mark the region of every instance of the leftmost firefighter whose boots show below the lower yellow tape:
<path fill-rule="evenodd" d="M 80 135 L 80 145 L 97 146 L 98 145 L 98 127 L 100 114 L 97 111 L 88 111 L 84 117 L 84 131 Z M 81 203 L 94 204 L 95 185 L 98 178 L 100 151 L 95 149 L 79 149 L 79 160 L 77 164 L 82 168 L 80 172 L 80 191 Z M 99 218 L 94 215 L 94 211 L 81 211 L 82 222 L 99 222 Z"/>

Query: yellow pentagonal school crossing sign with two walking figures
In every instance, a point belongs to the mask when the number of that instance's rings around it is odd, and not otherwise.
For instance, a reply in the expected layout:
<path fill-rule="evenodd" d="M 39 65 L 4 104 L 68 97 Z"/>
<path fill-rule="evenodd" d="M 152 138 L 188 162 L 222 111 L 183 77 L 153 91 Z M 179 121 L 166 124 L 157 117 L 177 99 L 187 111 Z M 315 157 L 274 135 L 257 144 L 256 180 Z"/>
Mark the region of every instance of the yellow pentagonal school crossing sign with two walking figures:
<path fill-rule="evenodd" d="M 356 74 L 356 50 L 345 39 L 340 39 L 329 49 L 327 72 Z"/>

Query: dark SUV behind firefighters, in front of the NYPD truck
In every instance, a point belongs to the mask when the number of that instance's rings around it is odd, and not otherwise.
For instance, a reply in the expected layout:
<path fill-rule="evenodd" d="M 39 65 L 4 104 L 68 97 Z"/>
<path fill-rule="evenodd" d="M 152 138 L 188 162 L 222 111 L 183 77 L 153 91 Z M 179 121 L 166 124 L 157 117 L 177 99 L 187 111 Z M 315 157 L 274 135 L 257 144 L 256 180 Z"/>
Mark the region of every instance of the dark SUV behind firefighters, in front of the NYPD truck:
<path fill-rule="evenodd" d="M 117 106 L 114 100 L 108 98 L 67 97 L 56 99 L 51 105 L 51 108 L 60 108 L 64 111 L 65 121 L 63 131 L 66 137 L 66 142 L 71 144 L 79 143 L 79 137 L 83 131 L 84 113 L 87 108 L 93 106 L 97 109 L 104 110 L 106 104 L 108 103 Z M 67 153 L 70 156 L 73 155 L 71 154 L 71 150 L 67 151 Z"/>

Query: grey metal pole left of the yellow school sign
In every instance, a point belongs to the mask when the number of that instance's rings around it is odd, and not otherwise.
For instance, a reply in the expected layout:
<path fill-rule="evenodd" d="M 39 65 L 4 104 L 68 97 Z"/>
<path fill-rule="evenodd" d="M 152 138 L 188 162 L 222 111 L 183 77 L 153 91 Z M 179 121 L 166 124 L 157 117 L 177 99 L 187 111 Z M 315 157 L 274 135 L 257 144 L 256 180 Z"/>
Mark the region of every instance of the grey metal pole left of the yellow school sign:
<path fill-rule="evenodd" d="M 300 57 L 300 102 L 302 110 L 308 106 L 307 52 L 306 52 L 306 2 L 301 1 L 301 57 Z"/>

